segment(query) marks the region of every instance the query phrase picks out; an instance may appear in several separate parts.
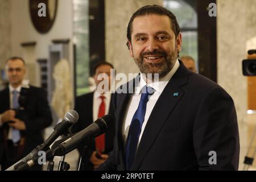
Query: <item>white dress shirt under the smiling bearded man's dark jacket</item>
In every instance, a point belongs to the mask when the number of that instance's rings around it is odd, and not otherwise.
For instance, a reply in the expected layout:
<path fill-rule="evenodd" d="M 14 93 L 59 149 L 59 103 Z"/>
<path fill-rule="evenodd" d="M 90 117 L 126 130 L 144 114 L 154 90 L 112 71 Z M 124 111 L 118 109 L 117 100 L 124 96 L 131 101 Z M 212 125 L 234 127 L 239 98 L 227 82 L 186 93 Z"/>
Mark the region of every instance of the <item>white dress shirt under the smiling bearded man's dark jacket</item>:
<path fill-rule="evenodd" d="M 142 124 L 141 134 L 139 135 L 137 148 L 139 146 L 139 142 L 141 141 L 141 137 L 147 125 L 147 121 L 148 121 L 148 118 L 150 117 L 151 111 L 153 110 L 156 104 L 156 101 L 158 101 L 158 98 L 160 97 L 161 93 L 163 92 L 164 88 L 166 87 L 167 83 L 170 81 L 172 76 L 174 76 L 179 66 L 180 66 L 180 63 L 178 60 L 176 60 L 174 68 L 172 68 L 171 71 L 166 76 L 164 76 L 163 78 L 160 78 L 159 81 L 152 82 L 151 84 L 147 84 L 147 82 L 145 81 L 145 78 L 141 76 L 141 79 L 138 85 L 135 85 L 135 93 L 133 94 L 133 96 L 131 97 L 131 100 L 127 105 L 125 119 L 122 125 L 122 138 L 123 138 L 123 141 L 125 142 L 124 146 L 126 146 L 131 119 L 133 119 L 133 115 L 135 114 L 135 111 L 138 109 L 139 101 L 141 100 L 141 89 L 143 88 L 143 86 L 145 85 L 151 86 L 151 88 L 155 89 L 155 92 L 154 94 L 148 97 L 146 114 L 144 117 L 144 122 Z"/>

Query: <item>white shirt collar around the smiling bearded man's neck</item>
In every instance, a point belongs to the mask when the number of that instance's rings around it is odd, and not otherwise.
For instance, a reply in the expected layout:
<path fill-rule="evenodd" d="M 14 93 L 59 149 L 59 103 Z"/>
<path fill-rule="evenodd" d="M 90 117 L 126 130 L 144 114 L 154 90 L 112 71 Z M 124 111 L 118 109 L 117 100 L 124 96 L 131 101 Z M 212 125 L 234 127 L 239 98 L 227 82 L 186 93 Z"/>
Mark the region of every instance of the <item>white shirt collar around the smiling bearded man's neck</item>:
<path fill-rule="evenodd" d="M 163 78 L 160 78 L 159 81 L 154 81 L 151 84 L 147 84 L 144 76 L 141 73 L 141 80 L 139 81 L 139 86 L 135 87 L 135 94 L 141 93 L 142 88 L 145 85 L 151 86 L 151 88 L 155 89 L 156 92 L 162 93 L 163 89 L 166 87 L 167 83 L 171 80 L 172 76 L 176 73 L 177 69 L 180 67 L 180 63 L 176 60 L 174 67 L 171 69 L 169 73 Z"/>

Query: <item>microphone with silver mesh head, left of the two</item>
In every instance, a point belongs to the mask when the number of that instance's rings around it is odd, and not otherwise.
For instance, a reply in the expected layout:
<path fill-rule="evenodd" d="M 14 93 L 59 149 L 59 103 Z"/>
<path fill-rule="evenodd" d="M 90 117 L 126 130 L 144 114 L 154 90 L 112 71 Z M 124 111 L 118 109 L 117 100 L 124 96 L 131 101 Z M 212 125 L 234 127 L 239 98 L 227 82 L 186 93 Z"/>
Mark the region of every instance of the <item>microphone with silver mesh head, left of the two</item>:
<path fill-rule="evenodd" d="M 63 121 L 58 123 L 53 129 L 53 133 L 46 139 L 46 141 L 39 146 L 37 146 L 34 150 L 30 152 L 23 159 L 19 160 L 13 166 L 6 169 L 6 171 L 13 171 L 16 169 L 20 163 L 26 163 L 28 160 L 33 159 L 38 155 L 39 151 L 47 151 L 49 146 L 60 136 L 68 132 L 69 127 L 71 127 L 74 123 L 79 119 L 79 114 L 75 110 L 69 110 L 65 116 Z"/>

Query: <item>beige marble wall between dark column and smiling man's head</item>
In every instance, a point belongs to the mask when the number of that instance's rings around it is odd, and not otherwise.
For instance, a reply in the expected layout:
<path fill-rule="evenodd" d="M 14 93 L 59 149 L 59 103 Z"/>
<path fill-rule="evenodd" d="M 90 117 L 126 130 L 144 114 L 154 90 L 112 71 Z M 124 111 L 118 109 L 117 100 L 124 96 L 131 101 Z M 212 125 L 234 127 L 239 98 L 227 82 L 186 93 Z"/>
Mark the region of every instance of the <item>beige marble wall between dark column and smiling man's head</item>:
<path fill-rule="evenodd" d="M 113 63 L 117 73 L 138 73 L 126 46 L 126 30 L 131 15 L 144 5 L 163 5 L 163 0 L 105 1 L 106 61 Z"/>

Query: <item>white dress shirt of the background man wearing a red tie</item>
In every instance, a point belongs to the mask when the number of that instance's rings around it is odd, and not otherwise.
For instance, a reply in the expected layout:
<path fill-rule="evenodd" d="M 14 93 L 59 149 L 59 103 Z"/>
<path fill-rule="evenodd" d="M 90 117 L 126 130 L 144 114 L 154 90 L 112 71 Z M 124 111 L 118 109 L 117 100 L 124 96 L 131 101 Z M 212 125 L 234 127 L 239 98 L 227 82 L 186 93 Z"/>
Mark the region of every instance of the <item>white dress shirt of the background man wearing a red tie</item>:
<path fill-rule="evenodd" d="M 105 115 L 109 113 L 111 93 L 108 92 L 108 93 L 100 94 L 97 90 L 95 90 L 95 92 L 93 93 L 93 121 L 96 121 L 96 119 L 98 119 L 98 110 L 100 109 L 100 105 L 101 105 L 100 96 L 105 96 L 105 99 L 104 99 Z"/>

